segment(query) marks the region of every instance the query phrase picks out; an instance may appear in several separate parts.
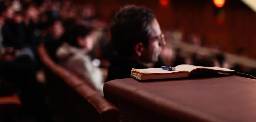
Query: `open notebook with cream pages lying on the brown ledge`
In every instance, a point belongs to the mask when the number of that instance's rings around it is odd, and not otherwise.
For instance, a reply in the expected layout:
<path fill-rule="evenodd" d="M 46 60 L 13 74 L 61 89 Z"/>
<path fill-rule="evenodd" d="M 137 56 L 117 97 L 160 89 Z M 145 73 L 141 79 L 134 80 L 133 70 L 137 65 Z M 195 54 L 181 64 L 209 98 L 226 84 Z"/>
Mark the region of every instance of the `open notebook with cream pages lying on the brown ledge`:
<path fill-rule="evenodd" d="M 182 78 L 189 77 L 193 72 L 236 72 L 227 68 L 220 67 L 202 67 L 189 64 L 182 64 L 175 67 L 175 71 L 168 71 L 161 68 L 146 68 L 131 70 L 131 76 L 137 80 L 150 80 L 150 79 L 169 79 L 169 78 Z"/>

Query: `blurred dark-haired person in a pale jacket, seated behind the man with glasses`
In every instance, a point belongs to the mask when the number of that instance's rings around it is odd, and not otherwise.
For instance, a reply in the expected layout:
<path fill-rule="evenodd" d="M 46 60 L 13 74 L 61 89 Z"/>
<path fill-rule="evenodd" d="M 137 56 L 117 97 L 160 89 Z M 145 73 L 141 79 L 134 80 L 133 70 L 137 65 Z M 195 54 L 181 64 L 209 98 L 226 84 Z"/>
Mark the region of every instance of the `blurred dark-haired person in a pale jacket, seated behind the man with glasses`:
<path fill-rule="evenodd" d="M 92 29 L 74 25 L 64 33 L 62 39 L 64 43 L 56 52 L 60 64 L 103 94 L 103 75 L 87 55 L 94 43 Z"/>

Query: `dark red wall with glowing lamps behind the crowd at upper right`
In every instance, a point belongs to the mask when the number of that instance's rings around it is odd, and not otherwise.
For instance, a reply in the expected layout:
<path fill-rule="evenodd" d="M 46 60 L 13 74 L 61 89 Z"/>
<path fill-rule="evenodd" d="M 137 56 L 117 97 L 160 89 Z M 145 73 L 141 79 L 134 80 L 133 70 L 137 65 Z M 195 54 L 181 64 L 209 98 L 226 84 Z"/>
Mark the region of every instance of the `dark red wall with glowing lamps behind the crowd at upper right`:
<path fill-rule="evenodd" d="M 167 6 L 160 5 L 158 0 L 84 2 L 95 4 L 99 17 L 106 20 L 124 5 L 143 5 L 154 11 L 162 29 L 182 30 L 184 41 L 190 34 L 197 34 L 206 47 L 221 44 L 232 54 L 245 49 L 243 56 L 256 59 L 256 13 L 240 0 L 226 0 L 221 9 L 217 9 L 212 0 L 170 0 Z"/>

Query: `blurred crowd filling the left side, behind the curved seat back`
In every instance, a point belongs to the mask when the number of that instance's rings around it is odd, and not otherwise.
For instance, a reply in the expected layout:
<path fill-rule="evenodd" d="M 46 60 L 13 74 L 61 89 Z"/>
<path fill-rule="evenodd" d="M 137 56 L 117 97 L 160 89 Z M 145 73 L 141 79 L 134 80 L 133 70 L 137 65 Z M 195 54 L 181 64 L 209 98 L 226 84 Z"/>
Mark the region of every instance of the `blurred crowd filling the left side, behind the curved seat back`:
<path fill-rule="evenodd" d="M 50 121 L 45 107 L 44 85 L 36 78 L 42 66 L 37 54 L 38 45 L 43 43 L 51 58 L 57 62 L 55 52 L 62 43 L 65 30 L 76 24 L 91 26 L 97 30 L 95 37 L 103 42 L 97 43 L 97 46 L 103 47 L 108 42 L 101 36 L 101 32 L 106 32 L 106 24 L 95 18 L 92 4 L 4 0 L 0 5 L 1 96 L 18 94 L 25 108 L 23 116 L 34 117 L 37 121 Z M 94 48 L 90 54 L 98 58 L 99 53 L 99 49 Z M 94 64 L 99 66 L 99 61 L 95 60 Z M 101 64 L 104 64 L 104 60 Z M 109 65 L 105 64 L 105 67 Z"/>

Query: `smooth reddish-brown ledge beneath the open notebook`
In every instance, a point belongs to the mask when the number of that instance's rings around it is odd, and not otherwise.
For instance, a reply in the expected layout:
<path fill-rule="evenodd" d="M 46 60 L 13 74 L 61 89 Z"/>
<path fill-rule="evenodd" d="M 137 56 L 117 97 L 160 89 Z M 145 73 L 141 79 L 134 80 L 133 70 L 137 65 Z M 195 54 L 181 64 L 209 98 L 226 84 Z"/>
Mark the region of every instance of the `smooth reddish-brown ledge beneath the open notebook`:
<path fill-rule="evenodd" d="M 175 120 L 255 121 L 256 80 L 238 76 L 104 84 L 105 97 L 122 106 L 139 106 Z"/>

